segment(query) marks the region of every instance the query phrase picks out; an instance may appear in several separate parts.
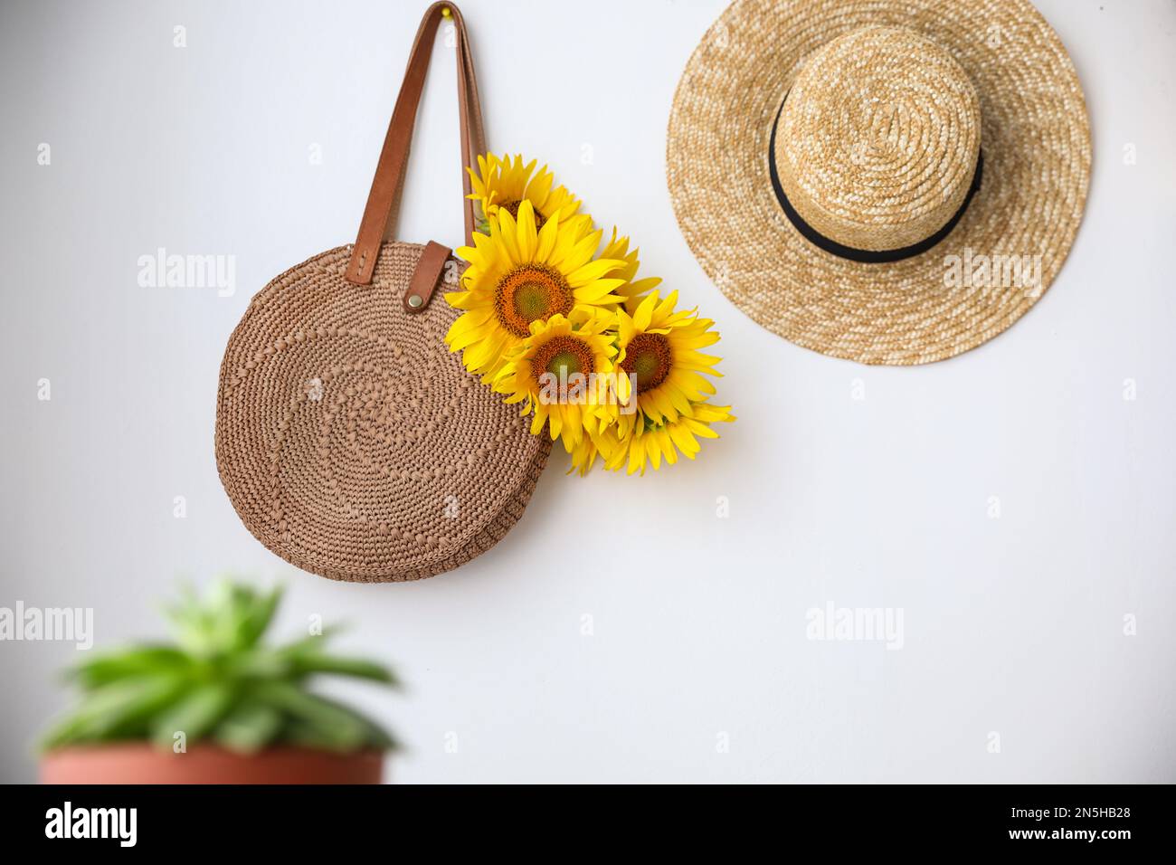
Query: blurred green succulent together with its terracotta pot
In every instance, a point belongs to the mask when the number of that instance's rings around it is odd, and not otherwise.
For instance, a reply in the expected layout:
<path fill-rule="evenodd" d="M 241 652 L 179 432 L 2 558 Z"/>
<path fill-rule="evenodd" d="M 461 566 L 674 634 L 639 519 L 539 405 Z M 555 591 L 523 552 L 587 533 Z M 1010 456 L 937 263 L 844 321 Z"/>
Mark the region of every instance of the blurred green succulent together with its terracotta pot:
<path fill-rule="evenodd" d="M 46 784 L 377 784 L 396 747 L 375 721 L 307 688 L 318 676 L 395 686 L 328 654 L 332 631 L 262 641 L 281 588 L 221 581 L 167 612 L 175 643 L 100 654 L 69 677 L 81 705 L 46 737 Z"/>

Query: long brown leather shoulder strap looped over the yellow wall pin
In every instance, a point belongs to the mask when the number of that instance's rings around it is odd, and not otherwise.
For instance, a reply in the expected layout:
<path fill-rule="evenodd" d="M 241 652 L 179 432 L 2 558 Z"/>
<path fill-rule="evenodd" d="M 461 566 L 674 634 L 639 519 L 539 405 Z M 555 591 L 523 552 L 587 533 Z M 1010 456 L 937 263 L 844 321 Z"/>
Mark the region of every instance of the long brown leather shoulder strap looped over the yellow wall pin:
<path fill-rule="evenodd" d="M 416 31 L 412 53 L 408 55 L 408 68 L 405 71 L 405 82 L 396 97 L 396 107 L 392 112 L 388 134 L 383 139 L 383 149 L 376 165 L 375 178 L 372 180 L 372 192 L 368 193 L 367 207 L 360 222 L 355 247 L 347 265 L 347 279 L 352 282 L 367 285 L 372 281 L 375 261 L 380 254 L 380 244 L 388 231 L 394 229 L 396 212 L 400 208 L 400 193 L 408 165 L 408 151 L 413 142 L 413 127 L 416 125 L 416 108 L 425 89 L 425 75 L 433 55 L 433 42 L 437 26 L 445 19 L 446 9 L 453 18 L 457 38 L 457 105 L 461 119 L 461 185 L 469 195 L 470 182 L 466 166 L 486 152 L 486 133 L 482 127 L 482 106 L 477 97 L 477 81 L 474 78 L 474 55 L 469 49 L 469 36 L 461 12 L 450 2 L 435 2 L 425 12 L 421 26 Z M 466 199 L 466 242 L 474 242 L 474 202 Z M 407 301 L 406 295 L 406 301 Z M 423 307 L 422 307 L 423 308 Z"/>

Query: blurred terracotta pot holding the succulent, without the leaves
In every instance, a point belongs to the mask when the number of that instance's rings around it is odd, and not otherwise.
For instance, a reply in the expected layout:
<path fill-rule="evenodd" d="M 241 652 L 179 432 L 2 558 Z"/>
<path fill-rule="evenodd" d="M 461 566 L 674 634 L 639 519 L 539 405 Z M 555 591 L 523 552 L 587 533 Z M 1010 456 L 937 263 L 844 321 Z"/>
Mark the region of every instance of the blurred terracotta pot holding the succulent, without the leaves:
<path fill-rule="evenodd" d="M 246 756 L 214 745 L 187 753 L 146 743 L 66 747 L 41 758 L 42 784 L 379 784 L 383 753 L 274 747 Z"/>

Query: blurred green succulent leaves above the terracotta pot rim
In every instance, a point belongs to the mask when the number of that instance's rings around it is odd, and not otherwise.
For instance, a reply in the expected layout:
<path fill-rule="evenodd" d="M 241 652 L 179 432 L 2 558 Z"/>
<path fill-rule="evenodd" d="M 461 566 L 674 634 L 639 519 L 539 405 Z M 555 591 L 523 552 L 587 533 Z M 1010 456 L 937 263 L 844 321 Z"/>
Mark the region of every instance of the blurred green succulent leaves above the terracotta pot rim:
<path fill-rule="evenodd" d="M 396 686 L 393 672 L 323 650 L 333 630 L 280 646 L 262 637 L 282 590 L 222 580 L 203 597 L 187 590 L 167 608 L 175 643 L 99 654 L 68 677 L 81 705 L 46 737 L 45 748 L 149 740 L 171 748 L 208 740 L 238 752 L 296 745 L 354 752 L 392 750 L 375 721 L 307 690 L 315 676 L 346 676 Z"/>

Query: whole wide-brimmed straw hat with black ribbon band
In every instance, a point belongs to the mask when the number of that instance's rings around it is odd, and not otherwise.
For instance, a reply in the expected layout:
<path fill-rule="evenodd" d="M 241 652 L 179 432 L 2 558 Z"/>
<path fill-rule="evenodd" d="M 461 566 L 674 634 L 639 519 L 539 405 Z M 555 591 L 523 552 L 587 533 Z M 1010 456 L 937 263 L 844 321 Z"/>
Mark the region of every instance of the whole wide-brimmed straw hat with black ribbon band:
<path fill-rule="evenodd" d="M 1053 282 L 1090 127 L 1028 0 L 735 0 L 679 82 L 667 179 L 703 270 L 761 325 L 927 364 Z"/>

